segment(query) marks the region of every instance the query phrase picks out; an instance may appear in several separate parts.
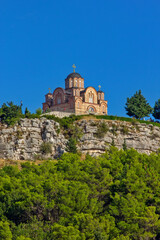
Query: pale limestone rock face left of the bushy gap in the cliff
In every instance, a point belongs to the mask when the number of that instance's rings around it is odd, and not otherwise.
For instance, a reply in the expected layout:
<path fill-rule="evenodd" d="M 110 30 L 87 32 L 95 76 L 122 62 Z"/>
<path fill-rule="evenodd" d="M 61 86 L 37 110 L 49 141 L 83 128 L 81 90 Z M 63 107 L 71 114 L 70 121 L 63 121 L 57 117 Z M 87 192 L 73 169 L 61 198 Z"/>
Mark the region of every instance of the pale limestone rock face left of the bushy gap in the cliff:
<path fill-rule="evenodd" d="M 0 126 L 0 158 L 34 159 L 40 154 L 43 142 L 50 142 L 52 153 L 48 157 L 58 157 L 65 152 L 67 140 L 57 133 L 59 124 L 53 120 L 21 119 L 14 127 Z"/>

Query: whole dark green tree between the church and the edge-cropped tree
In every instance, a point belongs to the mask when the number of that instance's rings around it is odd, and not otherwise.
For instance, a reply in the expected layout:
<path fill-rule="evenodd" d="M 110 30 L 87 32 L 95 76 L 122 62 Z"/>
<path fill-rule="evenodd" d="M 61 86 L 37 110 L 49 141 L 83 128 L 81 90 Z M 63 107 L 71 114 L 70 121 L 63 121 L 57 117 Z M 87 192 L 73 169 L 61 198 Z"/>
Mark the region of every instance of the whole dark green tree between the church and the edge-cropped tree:
<path fill-rule="evenodd" d="M 149 103 L 147 103 L 145 97 L 141 94 L 141 90 L 136 92 L 131 98 L 127 98 L 125 109 L 128 116 L 137 119 L 148 117 L 153 110 Z"/>

